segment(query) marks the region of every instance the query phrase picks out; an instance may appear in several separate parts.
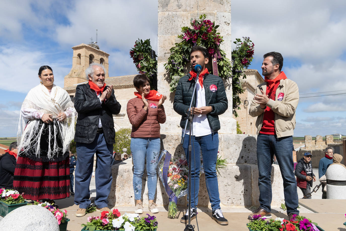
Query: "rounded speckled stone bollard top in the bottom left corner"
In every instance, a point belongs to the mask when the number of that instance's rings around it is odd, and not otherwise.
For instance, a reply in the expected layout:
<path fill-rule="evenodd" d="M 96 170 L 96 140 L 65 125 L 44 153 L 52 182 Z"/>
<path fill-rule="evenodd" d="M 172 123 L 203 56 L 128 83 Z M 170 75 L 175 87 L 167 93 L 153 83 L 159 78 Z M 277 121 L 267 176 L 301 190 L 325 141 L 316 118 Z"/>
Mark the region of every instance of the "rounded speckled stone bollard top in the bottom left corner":
<path fill-rule="evenodd" d="M 16 208 L 0 221 L 0 230 L 59 231 L 58 221 L 47 208 L 25 205 Z"/>

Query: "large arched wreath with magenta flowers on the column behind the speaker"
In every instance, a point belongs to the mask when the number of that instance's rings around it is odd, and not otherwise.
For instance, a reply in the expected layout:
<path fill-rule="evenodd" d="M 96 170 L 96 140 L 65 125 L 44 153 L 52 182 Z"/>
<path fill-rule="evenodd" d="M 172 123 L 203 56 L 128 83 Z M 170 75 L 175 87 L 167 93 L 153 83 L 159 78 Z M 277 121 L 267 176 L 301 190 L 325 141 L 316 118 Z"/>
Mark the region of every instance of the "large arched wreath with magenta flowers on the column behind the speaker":
<path fill-rule="evenodd" d="M 175 91 L 178 81 L 181 77 L 188 73 L 185 68 L 186 64 L 190 63 L 190 51 L 193 46 L 201 46 L 208 50 L 210 56 L 219 51 L 221 58 L 218 59 L 218 72 L 222 79 L 231 77 L 231 62 L 226 57 L 226 53 L 220 49 L 220 43 L 224 42 L 220 33 L 216 32 L 219 25 L 215 22 L 207 20 L 207 15 L 203 14 L 199 19 L 191 19 L 191 26 L 182 27 L 181 31 L 184 34 L 178 35 L 182 41 L 175 43 L 170 49 L 171 55 L 164 64 L 165 69 L 170 73 L 171 77 L 171 92 Z"/>

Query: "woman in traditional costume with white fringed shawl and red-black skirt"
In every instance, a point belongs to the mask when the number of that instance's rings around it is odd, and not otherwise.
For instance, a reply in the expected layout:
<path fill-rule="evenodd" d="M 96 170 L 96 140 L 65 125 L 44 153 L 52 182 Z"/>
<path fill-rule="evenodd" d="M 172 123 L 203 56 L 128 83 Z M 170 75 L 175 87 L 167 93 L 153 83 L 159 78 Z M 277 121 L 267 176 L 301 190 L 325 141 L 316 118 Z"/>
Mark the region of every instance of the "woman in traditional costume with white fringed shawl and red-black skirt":
<path fill-rule="evenodd" d="M 53 70 L 41 66 L 41 84 L 31 89 L 20 110 L 18 160 L 13 187 L 31 200 L 70 196 L 69 144 L 76 111 L 69 94 L 53 84 Z"/>

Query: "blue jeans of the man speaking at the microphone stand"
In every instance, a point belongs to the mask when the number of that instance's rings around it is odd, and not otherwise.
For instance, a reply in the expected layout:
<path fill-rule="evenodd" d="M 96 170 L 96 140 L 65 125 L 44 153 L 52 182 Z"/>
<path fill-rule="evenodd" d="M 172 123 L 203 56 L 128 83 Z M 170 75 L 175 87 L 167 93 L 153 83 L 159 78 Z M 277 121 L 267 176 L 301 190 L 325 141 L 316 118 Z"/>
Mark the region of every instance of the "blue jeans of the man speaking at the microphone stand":
<path fill-rule="evenodd" d="M 203 169 L 206 177 L 206 186 L 212 210 L 220 208 L 219 186 L 216 175 L 216 159 L 219 149 L 219 134 L 191 136 L 191 207 L 198 204 L 199 171 L 201 168 L 201 156 L 203 157 Z M 186 159 L 189 161 L 189 136 L 185 135 L 183 148 Z"/>

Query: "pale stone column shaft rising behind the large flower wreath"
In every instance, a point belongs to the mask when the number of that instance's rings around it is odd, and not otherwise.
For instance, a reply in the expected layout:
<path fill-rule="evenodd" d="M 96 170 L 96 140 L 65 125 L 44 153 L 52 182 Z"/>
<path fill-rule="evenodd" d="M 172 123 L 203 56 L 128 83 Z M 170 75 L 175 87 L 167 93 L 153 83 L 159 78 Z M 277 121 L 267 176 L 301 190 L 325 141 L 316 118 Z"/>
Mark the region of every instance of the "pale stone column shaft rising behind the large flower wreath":
<path fill-rule="evenodd" d="M 170 56 L 170 48 L 174 43 L 180 42 L 177 35 L 181 34 L 181 27 L 190 27 L 190 19 L 198 18 L 202 14 L 207 19 L 220 25 L 217 29 L 225 42 L 221 44 L 222 50 L 231 59 L 231 1 L 220 0 L 217 2 L 199 0 L 160 0 L 158 1 L 158 66 L 157 88 L 158 91 L 168 97 L 164 104 L 167 121 L 161 126 L 161 133 L 181 134 L 179 127 L 181 116 L 173 110 L 174 92 L 170 92 L 170 76 L 164 68 Z M 211 60 L 210 60 L 211 62 Z M 226 94 L 228 98 L 228 110 L 220 116 L 221 130 L 219 133 L 236 133 L 236 120 L 232 118 L 232 86 L 225 80 Z"/>

